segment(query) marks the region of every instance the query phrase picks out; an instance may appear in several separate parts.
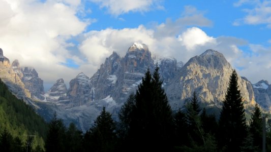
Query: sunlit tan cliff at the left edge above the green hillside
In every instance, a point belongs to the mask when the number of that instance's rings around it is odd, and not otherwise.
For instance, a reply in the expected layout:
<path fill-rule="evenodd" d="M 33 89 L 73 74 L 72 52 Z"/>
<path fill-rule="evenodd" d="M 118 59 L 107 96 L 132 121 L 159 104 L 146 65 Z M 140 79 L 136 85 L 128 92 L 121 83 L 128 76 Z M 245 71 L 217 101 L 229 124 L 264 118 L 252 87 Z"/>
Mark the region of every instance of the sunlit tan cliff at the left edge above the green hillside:
<path fill-rule="evenodd" d="M 17 71 L 13 70 L 2 49 L 0 49 L 0 78 L 17 97 L 31 97 L 31 93 L 25 89 L 21 81 L 21 74 L 18 75 Z"/>

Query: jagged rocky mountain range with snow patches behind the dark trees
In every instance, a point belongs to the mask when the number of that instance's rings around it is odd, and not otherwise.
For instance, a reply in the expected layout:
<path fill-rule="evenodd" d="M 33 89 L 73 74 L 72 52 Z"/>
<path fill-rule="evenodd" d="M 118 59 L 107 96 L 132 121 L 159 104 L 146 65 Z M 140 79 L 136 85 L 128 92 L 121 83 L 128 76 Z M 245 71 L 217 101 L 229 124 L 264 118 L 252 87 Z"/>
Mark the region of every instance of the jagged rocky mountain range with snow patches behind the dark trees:
<path fill-rule="evenodd" d="M 202 106 L 221 108 L 233 69 L 218 51 L 206 50 L 184 64 L 174 58 L 154 57 L 146 45 L 134 43 L 124 57 L 113 52 L 92 77 L 79 73 L 69 88 L 59 78 L 44 92 L 43 80 L 35 68 L 21 68 L 18 60 L 10 64 L 0 49 L 0 78 L 13 94 L 35 107 L 45 120 L 49 121 L 56 112 L 66 125 L 74 122 L 83 131 L 89 129 L 103 106 L 116 120 L 120 107 L 136 91 L 146 70 L 153 71 L 156 64 L 173 110 L 182 108 L 194 91 Z M 238 77 L 245 108 L 249 111 L 258 103 L 269 111 L 268 82 L 251 84 L 245 77 Z"/>

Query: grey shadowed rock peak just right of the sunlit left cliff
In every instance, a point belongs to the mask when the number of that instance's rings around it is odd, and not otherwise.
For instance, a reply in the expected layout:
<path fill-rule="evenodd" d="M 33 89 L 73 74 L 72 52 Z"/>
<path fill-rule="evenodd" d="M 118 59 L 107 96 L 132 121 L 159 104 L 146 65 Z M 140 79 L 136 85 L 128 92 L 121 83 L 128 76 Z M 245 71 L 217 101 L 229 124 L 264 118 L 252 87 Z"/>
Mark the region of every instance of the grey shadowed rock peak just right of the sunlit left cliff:
<path fill-rule="evenodd" d="M 39 78 L 38 72 L 35 68 L 24 67 L 21 68 L 22 72 L 22 82 L 26 89 L 31 92 L 31 97 L 33 99 L 44 100 L 44 88 L 43 80 Z"/>

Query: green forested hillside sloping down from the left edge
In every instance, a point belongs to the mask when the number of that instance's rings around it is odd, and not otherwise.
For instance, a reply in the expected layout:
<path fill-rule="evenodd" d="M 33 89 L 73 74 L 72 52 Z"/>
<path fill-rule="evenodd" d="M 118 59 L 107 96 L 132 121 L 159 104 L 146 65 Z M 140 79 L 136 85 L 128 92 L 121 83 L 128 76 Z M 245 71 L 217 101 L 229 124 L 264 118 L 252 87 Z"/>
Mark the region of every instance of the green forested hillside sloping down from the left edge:
<path fill-rule="evenodd" d="M 0 80 L 0 151 L 44 151 L 47 127 L 34 109 Z"/>

